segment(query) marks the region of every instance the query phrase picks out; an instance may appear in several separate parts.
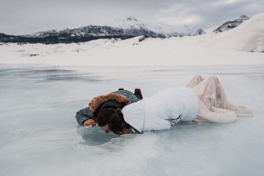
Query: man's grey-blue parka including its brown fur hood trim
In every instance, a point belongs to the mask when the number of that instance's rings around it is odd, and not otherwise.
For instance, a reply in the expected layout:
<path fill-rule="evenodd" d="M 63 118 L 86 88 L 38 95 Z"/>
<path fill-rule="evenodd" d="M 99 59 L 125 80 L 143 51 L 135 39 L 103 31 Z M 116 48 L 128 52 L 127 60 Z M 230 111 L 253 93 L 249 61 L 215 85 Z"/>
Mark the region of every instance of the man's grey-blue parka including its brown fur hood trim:
<path fill-rule="evenodd" d="M 93 116 L 93 112 L 103 103 L 109 100 L 116 100 L 117 102 L 122 101 L 123 103 L 126 101 L 126 104 L 135 103 L 141 99 L 138 99 L 134 93 L 127 91 L 127 90 L 121 90 L 121 91 L 115 91 L 110 94 L 104 95 L 104 96 L 98 96 L 94 98 L 91 103 L 89 103 L 89 106 L 79 110 L 76 113 L 76 120 L 80 125 L 83 125 L 83 122 L 89 119 L 93 119 L 95 122 L 97 122 L 97 117 Z M 129 101 L 130 100 L 130 101 Z M 120 102 L 121 103 L 121 102 Z"/>

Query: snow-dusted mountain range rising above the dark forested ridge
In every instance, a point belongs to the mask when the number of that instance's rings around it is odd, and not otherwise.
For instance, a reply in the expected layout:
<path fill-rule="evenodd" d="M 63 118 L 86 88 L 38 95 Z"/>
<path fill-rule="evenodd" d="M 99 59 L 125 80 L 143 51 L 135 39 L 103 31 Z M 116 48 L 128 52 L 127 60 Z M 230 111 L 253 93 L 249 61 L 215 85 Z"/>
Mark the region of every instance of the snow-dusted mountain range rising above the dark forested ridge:
<path fill-rule="evenodd" d="M 172 27 L 163 23 L 144 23 L 135 18 L 127 18 L 124 20 L 115 20 L 105 26 L 88 25 L 76 29 L 49 30 L 36 32 L 31 35 L 23 35 L 23 37 L 43 38 L 47 36 L 58 37 L 60 35 L 68 37 L 91 37 L 91 36 L 140 36 L 147 35 L 150 37 L 172 37 L 172 36 L 193 36 L 205 34 L 204 30 L 198 27 L 183 26 Z M 119 38 L 119 37 L 118 37 Z"/>

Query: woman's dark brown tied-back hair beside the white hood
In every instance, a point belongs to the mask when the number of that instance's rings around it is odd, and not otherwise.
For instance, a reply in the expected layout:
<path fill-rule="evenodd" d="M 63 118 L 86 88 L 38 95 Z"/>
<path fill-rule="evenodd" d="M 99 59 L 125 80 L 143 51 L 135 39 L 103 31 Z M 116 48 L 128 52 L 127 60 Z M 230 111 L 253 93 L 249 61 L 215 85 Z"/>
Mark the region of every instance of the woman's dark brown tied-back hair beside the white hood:
<path fill-rule="evenodd" d="M 125 122 L 123 113 L 120 108 L 116 109 L 116 112 L 112 113 L 112 115 L 108 119 L 109 129 L 117 134 L 124 134 L 126 129 L 130 128 L 130 125 Z"/>

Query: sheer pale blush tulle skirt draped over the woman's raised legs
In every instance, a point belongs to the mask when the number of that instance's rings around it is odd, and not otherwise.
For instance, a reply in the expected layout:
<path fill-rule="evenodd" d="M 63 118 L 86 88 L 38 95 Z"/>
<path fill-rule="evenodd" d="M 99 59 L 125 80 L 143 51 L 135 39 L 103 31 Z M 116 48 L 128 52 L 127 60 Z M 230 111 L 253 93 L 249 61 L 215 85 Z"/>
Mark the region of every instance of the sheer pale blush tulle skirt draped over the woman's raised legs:
<path fill-rule="evenodd" d="M 196 122 L 227 123 L 235 121 L 237 116 L 253 115 L 248 108 L 228 100 L 223 85 L 215 76 L 204 79 L 201 75 L 194 75 L 186 87 L 192 88 L 198 98 Z"/>

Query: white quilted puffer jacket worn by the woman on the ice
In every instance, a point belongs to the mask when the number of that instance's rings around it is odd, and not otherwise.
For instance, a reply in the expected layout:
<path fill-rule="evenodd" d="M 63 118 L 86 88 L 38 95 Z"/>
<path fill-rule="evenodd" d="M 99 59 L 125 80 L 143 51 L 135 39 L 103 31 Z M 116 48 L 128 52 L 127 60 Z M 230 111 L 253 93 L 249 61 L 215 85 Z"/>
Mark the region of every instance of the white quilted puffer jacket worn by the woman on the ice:
<path fill-rule="evenodd" d="M 124 120 L 139 132 L 170 129 L 178 121 L 192 121 L 198 100 L 191 88 L 167 89 L 122 109 Z"/>

